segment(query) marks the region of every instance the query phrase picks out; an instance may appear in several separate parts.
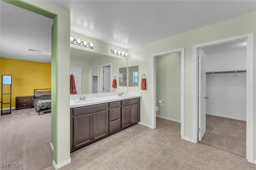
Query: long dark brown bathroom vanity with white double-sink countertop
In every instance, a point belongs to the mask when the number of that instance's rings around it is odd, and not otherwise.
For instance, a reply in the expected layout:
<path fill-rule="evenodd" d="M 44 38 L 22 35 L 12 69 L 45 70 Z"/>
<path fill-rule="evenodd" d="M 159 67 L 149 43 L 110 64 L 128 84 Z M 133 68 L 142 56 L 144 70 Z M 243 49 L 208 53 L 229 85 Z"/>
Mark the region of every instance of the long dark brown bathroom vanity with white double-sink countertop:
<path fill-rule="evenodd" d="M 70 152 L 140 122 L 140 95 L 70 101 Z"/>

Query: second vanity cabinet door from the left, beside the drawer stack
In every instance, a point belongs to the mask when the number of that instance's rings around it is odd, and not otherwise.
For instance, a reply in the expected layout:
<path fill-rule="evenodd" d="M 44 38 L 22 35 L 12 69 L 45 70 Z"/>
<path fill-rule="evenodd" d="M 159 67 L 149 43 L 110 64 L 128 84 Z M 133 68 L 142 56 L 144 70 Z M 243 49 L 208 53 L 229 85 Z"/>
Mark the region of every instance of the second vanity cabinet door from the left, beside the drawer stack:
<path fill-rule="evenodd" d="M 93 113 L 93 141 L 108 135 L 108 111 Z"/>

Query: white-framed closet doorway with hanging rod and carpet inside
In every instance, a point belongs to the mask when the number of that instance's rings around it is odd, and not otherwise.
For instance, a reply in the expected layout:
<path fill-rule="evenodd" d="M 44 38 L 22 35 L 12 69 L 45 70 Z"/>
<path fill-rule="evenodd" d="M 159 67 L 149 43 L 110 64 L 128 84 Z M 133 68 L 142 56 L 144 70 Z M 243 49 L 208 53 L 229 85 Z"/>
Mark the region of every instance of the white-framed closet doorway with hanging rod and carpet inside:
<path fill-rule="evenodd" d="M 246 34 L 194 45 L 198 68 L 194 89 L 197 91 L 194 107 L 198 113 L 195 143 L 246 157 L 251 163 L 254 156 L 252 42 L 252 34 Z"/>

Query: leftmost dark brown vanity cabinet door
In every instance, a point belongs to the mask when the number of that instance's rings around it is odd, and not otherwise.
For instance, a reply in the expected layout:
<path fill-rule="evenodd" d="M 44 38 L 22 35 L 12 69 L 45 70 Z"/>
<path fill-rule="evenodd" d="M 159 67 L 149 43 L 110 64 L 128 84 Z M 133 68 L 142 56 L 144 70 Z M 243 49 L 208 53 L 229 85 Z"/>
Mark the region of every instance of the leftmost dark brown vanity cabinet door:
<path fill-rule="evenodd" d="M 92 114 L 73 118 L 73 149 L 92 142 Z"/>

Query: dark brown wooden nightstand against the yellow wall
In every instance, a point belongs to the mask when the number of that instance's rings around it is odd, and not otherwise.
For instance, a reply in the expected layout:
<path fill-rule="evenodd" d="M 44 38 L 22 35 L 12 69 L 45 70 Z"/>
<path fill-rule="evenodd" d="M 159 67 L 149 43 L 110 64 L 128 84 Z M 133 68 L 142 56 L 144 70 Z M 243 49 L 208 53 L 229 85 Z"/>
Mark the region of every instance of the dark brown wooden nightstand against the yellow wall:
<path fill-rule="evenodd" d="M 33 108 L 34 96 L 16 96 L 16 109 L 28 109 Z"/>

